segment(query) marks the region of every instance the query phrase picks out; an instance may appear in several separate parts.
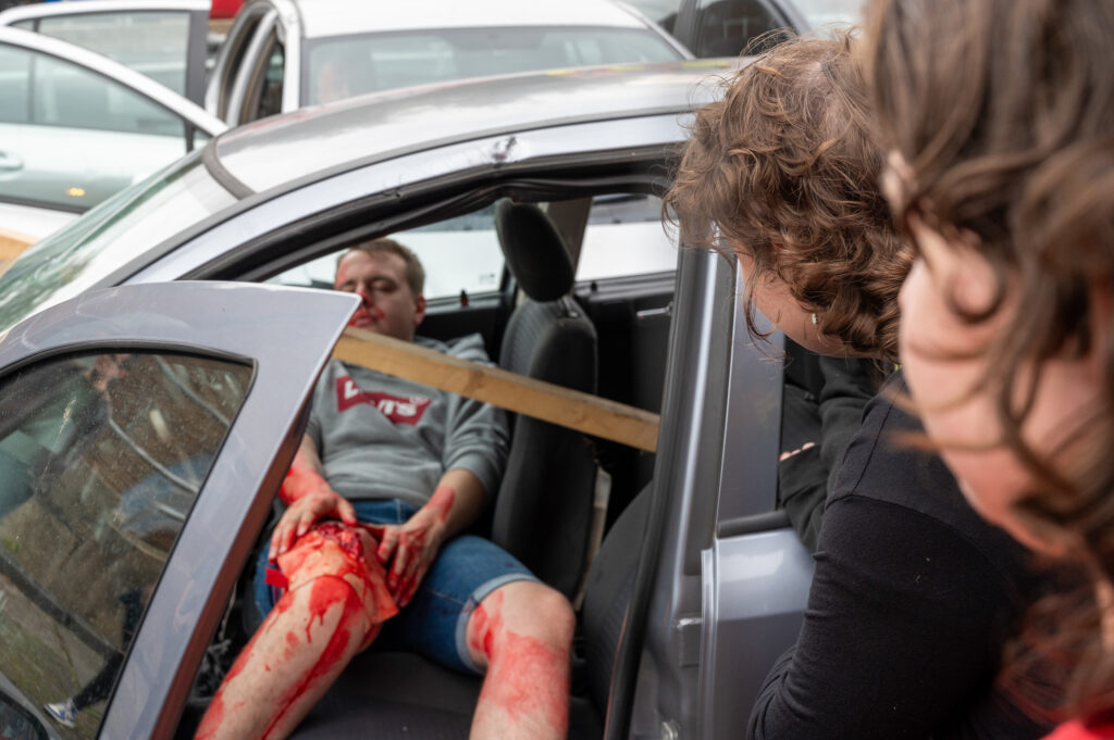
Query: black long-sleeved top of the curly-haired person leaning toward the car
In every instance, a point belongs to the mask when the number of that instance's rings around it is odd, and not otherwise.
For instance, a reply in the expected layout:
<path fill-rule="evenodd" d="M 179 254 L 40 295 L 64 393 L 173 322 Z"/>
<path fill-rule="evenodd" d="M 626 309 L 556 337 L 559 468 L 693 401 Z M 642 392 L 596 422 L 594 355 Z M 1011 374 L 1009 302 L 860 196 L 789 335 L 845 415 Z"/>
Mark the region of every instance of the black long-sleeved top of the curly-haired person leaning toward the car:
<path fill-rule="evenodd" d="M 867 406 L 823 514 L 797 645 L 766 678 L 754 740 L 1042 738 L 995 685 L 1003 647 L 1051 580 L 980 519 L 919 423 Z"/>

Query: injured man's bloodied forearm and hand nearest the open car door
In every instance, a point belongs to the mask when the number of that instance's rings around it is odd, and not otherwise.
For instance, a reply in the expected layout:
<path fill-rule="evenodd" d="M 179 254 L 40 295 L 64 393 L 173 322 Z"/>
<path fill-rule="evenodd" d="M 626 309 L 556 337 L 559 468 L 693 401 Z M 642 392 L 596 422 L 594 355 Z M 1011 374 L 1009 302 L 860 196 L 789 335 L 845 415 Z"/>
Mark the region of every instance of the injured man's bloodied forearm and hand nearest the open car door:
<path fill-rule="evenodd" d="M 294 544 L 294 540 L 310 531 L 317 520 L 334 516 L 345 524 L 355 525 L 355 510 L 325 481 L 324 466 L 317 445 L 309 434 L 302 437 L 294 462 L 286 472 L 278 497 L 286 511 L 271 533 L 268 558 L 274 561 Z"/>

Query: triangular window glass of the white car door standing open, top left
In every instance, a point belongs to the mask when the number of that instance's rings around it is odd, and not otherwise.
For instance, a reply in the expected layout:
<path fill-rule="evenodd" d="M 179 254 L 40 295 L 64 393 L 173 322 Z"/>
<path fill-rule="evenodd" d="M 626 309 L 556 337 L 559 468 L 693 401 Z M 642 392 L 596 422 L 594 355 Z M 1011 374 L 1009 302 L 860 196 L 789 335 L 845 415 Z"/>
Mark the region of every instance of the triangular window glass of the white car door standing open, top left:
<path fill-rule="evenodd" d="M 189 16 L 183 11 L 47 17 L 39 32 L 91 49 L 185 95 Z"/>

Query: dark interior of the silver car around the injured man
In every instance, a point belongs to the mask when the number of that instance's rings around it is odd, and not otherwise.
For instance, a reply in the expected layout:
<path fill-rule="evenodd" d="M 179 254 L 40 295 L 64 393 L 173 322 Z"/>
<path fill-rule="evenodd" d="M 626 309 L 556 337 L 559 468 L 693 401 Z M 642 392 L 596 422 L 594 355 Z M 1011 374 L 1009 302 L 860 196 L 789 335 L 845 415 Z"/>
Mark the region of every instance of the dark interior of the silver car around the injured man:
<path fill-rule="evenodd" d="M 604 239 L 609 241 L 604 249 L 614 250 L 624 230 L 635 231 L 635 238 L 625 237 L 632 241 L 624 255 L 629 265 L 631 248 L 642 244 L 649 253 L 639 236 L 647 225 L 665 245 L 658 245 L 656 262 L 643 260 L 643 269 L 648 265 L 651 272 L 605 277 L 606 259 L 597 257 L 596 267 L 585 273 L 594 277 L 577 279 L 574 260 L 580 254 L 569 244 L 590 251 Z M 655 195 L 609 193 L 536 203 L 501 198 L 382 236 L 413 248 L 427 269 L 429 308 L 420 334 L 448 339 L 479 333 L 488 355 L 504 369 L 648 412 L 659 410 L 676 250 L 661 226 Z M 331 288 L 336 259 L 350 244 L 311 264 L 285 266 L 270 282 Z M 452 255 L 455 248 L 470 251 Z M 441 279 L 446 270 L 438 256 L 450 263 L 456 283 Z M 637 265 L 637 254 L 633 256 Z M 476 275 L 468 274 L 468 266 Z M 646 506 L 639 501 L 646 496 L 638 493 L 653 474 L 654 456 L 510 416 L 502 484 L 491 511 L 473 530 L 579 608 L 569 737 L 599 738 L 643 537 Z M 198 673 L 179 738 L 192 737 L 223 670 L 255 626 L 255 610 L 244 598 L 252 568 L 242 574 L 229 618 Z M 362 737 L 369 722 L 377 737 L 465 737 L 479 689 L 478 678 L 372 647 L 356 657 L 294 737 Z"/>

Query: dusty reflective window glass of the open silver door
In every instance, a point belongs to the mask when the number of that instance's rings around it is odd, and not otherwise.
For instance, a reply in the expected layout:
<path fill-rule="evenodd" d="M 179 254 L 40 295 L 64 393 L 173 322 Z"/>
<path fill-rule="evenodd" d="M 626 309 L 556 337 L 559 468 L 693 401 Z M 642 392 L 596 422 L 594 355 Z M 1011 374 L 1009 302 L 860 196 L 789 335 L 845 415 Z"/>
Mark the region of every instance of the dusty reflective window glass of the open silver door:
<path fill-rule="evenodd" d="M 96 734 L 250 382 L 241 365 L 147 353 L 3 381 L 0 674 L 16 703 L 76 712 L 67 737 Z"/>

